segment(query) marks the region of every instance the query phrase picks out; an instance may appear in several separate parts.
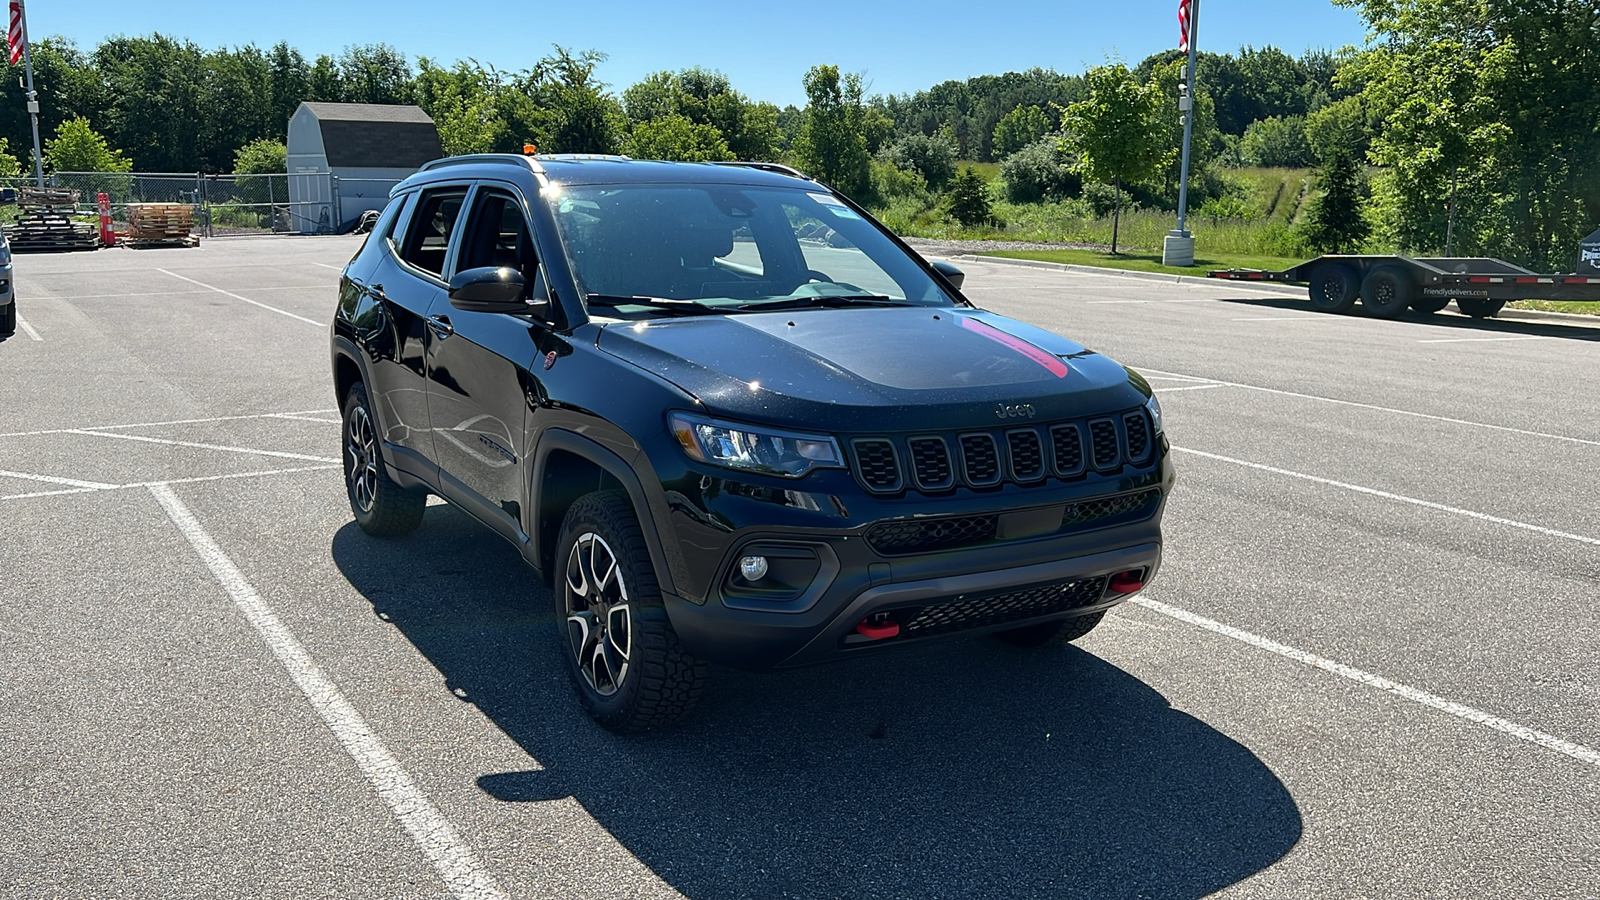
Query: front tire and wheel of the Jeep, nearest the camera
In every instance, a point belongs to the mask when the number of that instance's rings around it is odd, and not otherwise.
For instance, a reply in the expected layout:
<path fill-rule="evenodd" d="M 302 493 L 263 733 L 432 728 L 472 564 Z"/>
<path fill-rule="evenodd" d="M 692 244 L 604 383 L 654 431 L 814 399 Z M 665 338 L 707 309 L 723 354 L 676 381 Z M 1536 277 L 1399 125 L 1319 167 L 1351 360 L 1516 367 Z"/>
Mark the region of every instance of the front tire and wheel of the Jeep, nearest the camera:
<path fill-rule="evenodd" d="M 573 503 L 555 554 L 560 653 L 584 709 L 618 733 L 688 716 L 706 687 L 706 663 L 667 620 L 627 495 L 603 490 Z"/>

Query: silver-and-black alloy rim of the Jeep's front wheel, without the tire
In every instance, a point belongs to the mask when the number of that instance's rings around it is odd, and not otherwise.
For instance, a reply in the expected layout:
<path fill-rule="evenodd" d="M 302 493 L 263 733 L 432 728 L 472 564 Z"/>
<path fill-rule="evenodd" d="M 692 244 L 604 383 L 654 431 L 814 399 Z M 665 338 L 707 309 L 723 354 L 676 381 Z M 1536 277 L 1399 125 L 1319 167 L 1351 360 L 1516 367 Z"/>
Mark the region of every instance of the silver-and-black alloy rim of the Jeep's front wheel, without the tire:
<path fill-rule="evenodd" d="M 627 679 L 634 652 L 634 615 L 616 552 L 586 532 L 566 557 L 566 644 L 584 681 L 602 697 Z"/>

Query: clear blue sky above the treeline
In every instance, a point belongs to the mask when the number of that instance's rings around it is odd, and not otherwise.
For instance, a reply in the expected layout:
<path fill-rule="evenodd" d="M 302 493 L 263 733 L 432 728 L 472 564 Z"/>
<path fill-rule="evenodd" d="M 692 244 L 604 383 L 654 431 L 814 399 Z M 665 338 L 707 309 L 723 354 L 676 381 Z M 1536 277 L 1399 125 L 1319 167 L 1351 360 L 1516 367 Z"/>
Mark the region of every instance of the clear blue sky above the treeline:
<path fill-rule="evenodd" d="M 206 48 L 286 40 L 307 58 L 384 42 L 413 61 L 474 58 L 515 70 L 560 43 L 608 53 L 598 75 L 618 91 L 650 72 L 704 66 L 726 72 L 752 99 L 797 106 L 805 104 L 802 75 L 819 62 L 864 72 L 869 93 L 1034 66 L 1082 72 L 1107 56 L 1138 62 L 1178 45 L 1176 11 L 1178 0 L 27 3 L 29 32 L 66 35 L 85 50 L 107 35 L 158 30 Z M 1299 54 L 1363 40 L 1360 18 L 1330 0 L 1202 0 L 1200 16 L 1202 50 L 1270 43 Z"/>

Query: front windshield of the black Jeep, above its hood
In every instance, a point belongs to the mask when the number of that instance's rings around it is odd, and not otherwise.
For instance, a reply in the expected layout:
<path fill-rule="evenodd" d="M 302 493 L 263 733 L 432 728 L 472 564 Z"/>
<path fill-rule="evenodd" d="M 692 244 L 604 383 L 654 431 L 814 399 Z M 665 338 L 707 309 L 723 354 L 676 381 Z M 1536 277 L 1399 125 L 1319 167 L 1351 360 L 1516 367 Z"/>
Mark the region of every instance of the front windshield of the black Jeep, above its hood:
<path fill-rule="evenodd" d="M 592 303 L 726 312 L 808 304 L 950 306 L 874 224 L 822 187 L 576 184 L 546 191 Z"/>

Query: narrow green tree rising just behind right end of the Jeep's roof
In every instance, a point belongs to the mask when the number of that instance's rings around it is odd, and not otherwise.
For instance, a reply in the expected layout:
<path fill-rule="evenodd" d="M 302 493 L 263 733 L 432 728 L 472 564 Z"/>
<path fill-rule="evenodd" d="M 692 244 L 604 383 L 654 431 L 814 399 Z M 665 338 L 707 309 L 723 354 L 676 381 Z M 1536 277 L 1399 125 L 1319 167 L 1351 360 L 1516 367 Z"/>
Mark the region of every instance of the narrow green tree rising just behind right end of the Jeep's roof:
<path fill-rule="evenodd" d="M 838 66 L 813 66 L 805 74 L 810 98 L 795 159 L 814 178 L 862 197 L 872 187 L 872 157 L 862 133 L 861 75 L 840 75 Z"/>

